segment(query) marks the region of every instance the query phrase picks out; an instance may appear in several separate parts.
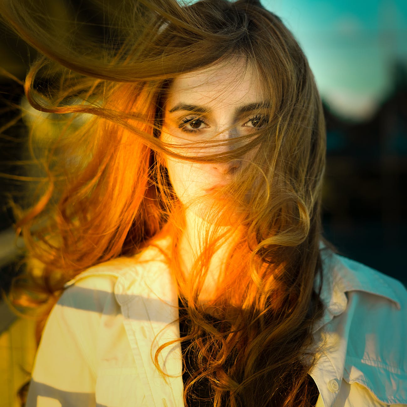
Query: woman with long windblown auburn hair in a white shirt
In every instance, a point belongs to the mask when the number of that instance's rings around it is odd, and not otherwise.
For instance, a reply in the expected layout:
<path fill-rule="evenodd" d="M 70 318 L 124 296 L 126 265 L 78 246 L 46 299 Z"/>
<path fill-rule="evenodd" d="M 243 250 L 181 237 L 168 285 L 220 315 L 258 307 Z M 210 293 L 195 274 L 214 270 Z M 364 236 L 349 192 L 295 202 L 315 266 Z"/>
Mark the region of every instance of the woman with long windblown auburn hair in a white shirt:
<path fill-rule="evenodd" d="M 405 289 L 321 241 L 321 102 L 278 17 L 129 2 L 103 47 L 2 13 L 49 58 L 28 101 L 76 114 L 18 224 L 60 296 L 28 406 L 407 404 Z"/>

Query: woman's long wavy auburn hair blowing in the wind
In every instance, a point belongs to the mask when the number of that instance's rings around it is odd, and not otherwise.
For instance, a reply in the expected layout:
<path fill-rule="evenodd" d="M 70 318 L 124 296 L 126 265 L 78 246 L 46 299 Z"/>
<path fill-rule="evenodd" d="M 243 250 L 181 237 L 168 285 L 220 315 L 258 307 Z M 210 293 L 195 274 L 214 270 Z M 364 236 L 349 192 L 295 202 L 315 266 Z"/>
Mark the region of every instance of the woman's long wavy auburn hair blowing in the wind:
<path fill-rule="evenodd" d="M 308 375 L 315 363 L 312 328 L 322 313 L 314 281 L 321 272 L 325 126 L 306 58 L 259 2 L 113 3 L 106 8 L 103 2 L 107 22 L 103 36 L 93 39 L 83 35 L 86 25 L 74 26 L 77 18 L 66 18 L 72 26 L 61 32 L 28 2 L 9 0 L 0 11 L 43 55 L 24 83 L 29 103 L 66 114 L 37 159 L 46 176 L 36 204 L 21 210 L 17 223 L 28 257 L 42 265 L 31 272 L 30 287 L 37 290 L 31 302 L 41 290 L 57 298 L 84 269 L 131 256 L 168 228 L 174 232 L 171 267 L 184 284 L 191 324 L 180 340 L 191 342 L 198 365 L 186 400 L 204 378 L 218 407 L 308 406 L 315 393 Z M 269 101 L 267 125 L 221 155 L 177 154 L 160 140 L 171 81 L 233 57 L 258 74 Z M 199 311 L 197 296 L 224 236 L 206 236 L 193 269 L 197 278 L 182 282 L 181 206 L 162 157 L 227 162 L 248 151 L 256 151 L 254 158 L 232 182 L 226 210 L 219 209 L 226 216 L 239 202 L 242 232 L 213 300 L 224 319 L 217 325 Z M 16 281 L 15 292 L 18 287 Z"/>

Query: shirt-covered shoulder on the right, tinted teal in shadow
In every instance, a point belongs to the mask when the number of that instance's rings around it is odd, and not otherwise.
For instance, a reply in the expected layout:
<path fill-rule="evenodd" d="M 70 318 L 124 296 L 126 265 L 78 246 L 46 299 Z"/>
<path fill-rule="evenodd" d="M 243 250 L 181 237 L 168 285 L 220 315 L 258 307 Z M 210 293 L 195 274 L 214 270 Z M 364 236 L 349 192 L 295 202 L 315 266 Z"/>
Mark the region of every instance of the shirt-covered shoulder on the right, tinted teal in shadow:
<path fill-rule="evenodd" d="M 343 380 L 342 390 L 351 389 L 349 394 L 365 392 L 365 397 L 372 396 L 377 405 L 407 404 L 405 287 L 336 254 L 323 255 L 323 264 L 326 310 L 319 332 L 325 344 L 319 367 L 331 370 L 331 380 Z M 324 358 L 331 367 L 324 365 Z M 343 396 L 340 387 L 338 393 Z M 331 389 L 331 397 L 334 395 Z"/>

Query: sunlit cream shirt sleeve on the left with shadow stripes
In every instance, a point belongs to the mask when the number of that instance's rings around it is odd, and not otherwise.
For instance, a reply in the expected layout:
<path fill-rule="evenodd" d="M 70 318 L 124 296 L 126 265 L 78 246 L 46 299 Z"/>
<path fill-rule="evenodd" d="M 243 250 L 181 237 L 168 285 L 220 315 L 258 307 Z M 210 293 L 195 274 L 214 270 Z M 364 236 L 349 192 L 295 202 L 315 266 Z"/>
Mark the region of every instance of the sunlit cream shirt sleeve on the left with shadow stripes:
<path fill-rule="evenodd" d="M 100 295 L 69 287 L 51 311 L 37 351 L 27 407 L 95 406 Z"/>

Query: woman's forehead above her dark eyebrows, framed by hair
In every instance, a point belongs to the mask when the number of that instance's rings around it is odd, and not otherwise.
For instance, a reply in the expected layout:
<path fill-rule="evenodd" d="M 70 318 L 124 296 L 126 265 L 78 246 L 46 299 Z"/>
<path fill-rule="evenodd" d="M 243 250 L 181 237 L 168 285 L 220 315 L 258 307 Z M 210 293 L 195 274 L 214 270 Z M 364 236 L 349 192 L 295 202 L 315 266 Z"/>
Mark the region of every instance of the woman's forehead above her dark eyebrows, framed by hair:
<path fill-rule="evenodd" d="M 179 75 L 171 84 L 166 105 L 185 102 L 216 108 L 262 100 L 256 70 L 244 59 L 235 59 Z"/>

